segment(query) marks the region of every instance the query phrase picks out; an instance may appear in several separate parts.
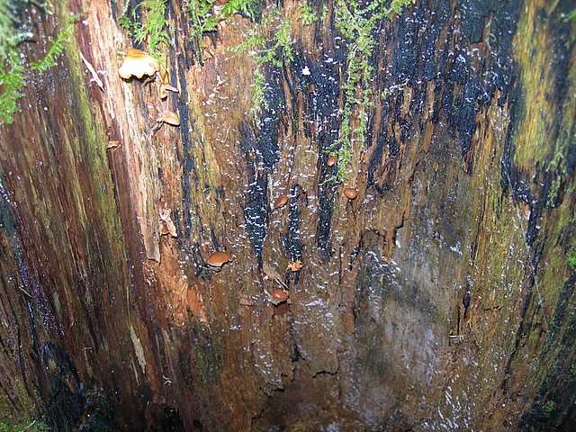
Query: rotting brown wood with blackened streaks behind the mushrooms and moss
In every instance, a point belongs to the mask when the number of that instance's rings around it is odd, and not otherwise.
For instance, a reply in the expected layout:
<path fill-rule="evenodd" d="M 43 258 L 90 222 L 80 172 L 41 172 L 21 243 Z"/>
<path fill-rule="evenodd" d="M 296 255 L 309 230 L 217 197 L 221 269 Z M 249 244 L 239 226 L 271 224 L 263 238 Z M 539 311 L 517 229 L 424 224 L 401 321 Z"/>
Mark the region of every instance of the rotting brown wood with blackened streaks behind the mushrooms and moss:
<path fill-rule="evenodd" d="M 230 52 L 256 24 L 220 23 L 200 65 L 168 4 L 181 126 L 155 134 L 156 90 L 117 75 L 122 2 L 28 11 L 31 59 L 58 17 L 85 21 L 0 130 L 14 410 L 34 401 L 56 430 L 570 430 L 572 2 L 418 0 L 379 23 L 374 108 L 343 185 L 326 165 L 347 73 L 334 4 L 311 3 L 311 26 L 282 4 L 293 60 L 266 67 L 258 121 L 256 65 Z M 177 238 L 159 236 L 162 208 Z M 205 261 L 224 249 L 215 273 Z M 263 264 L 296 260 L 291 303 L 273 307 Z"/>

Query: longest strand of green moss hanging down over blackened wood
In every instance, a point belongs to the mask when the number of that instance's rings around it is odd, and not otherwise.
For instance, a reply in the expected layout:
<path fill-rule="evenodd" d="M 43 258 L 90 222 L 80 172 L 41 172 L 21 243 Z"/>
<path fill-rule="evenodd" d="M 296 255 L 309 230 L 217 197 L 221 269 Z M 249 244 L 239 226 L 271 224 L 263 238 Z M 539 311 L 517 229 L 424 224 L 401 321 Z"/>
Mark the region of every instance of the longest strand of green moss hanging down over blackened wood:
<path fill-rule="evenodd" d="M 343 87 L 346 100 L 342 123 L 338 140 L 329 150 L 330 154 L 338 155 L 337 182 L 346 178 L 347 165 L 352 156 L 352 139 L 363 144 L 365 141 L 368 112 L 373 107 L 370 82 L 374 68 L 369 60 L 374 53 L 373 32 L 376 24 L 401 14 L 412 3 L 413 0 L 392 0 L 389 7 L 385 7 L 384 2 L 369 3 L 363 7 L 356 0 L 336 0 L 336 27 L 348 43 L 347 82 Z M 351 123 L 356 112 L 358 126 L 353 129 Z"/>

